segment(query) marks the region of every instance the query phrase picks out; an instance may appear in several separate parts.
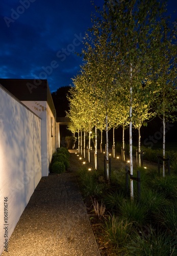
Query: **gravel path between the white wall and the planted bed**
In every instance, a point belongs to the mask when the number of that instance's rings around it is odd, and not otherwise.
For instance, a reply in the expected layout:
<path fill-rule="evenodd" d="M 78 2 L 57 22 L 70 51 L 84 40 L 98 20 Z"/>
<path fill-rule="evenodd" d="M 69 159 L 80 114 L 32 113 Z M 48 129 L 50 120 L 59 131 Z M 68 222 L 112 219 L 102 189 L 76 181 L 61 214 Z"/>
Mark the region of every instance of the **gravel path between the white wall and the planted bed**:
<path fill-rule="evenodd" d="M 99 256 L 74 170 L 42 177 L 2 255 Z"/>

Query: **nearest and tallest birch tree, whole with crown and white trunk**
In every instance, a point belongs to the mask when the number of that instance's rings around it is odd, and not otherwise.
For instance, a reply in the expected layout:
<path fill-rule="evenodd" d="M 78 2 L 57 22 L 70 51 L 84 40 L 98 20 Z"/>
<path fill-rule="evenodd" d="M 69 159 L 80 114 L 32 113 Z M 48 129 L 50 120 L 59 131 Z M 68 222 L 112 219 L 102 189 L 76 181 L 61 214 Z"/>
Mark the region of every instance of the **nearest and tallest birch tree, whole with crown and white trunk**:
<path fill-rule="evenodd" d="M 122 58 L 122 75 L 129 95 L 129 140 L 130 140 L 130 174 L 133 175 L 132 123 L 133 102 L 141 83 L 151 72 L 153 52 L 156 51 L 155 40 L 159 17 L 164 6 L 156 0 L 107 2 L 104 12 L 106 23 L 113 33 L 113 44 Z M 106 13 L 106 14 L 105 14 Z M 109 20 L 109 21 L 108 21 Z M 141 94 L 139 94 L 141 97 Z M 130 182 L 131 199 L 134 198 L 133 180 Z"/>

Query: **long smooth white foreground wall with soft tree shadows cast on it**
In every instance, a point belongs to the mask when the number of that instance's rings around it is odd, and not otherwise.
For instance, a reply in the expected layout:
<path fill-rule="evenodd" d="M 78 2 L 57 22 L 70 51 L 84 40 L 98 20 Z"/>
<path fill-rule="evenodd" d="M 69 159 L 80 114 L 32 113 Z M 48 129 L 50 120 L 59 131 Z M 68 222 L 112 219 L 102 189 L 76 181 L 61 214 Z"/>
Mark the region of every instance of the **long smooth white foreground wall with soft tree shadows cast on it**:
<path fill-rule="evenodd" d="M 0 87 L 0 254 L 41 172 L 41 119 Z M 8 223 L 4 201 L 8 198 Z M 5 204 L 4 204 L 5 203 Z"/>

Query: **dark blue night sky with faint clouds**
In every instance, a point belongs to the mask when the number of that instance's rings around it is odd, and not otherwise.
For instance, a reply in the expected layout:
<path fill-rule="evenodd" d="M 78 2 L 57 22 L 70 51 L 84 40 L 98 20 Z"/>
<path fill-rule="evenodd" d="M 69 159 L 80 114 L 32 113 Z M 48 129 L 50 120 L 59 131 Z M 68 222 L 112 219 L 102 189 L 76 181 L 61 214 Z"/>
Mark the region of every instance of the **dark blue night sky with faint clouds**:
<path fill-rule="evenodd" d="M 177 1 L 168 0 L 174 9 Z M 51 91 L 68 86 L 80 70 L 74 52 L 81 52 L 91 12 L 90 0 L 0 0 L 0 78 L 47 79 Z"/>

